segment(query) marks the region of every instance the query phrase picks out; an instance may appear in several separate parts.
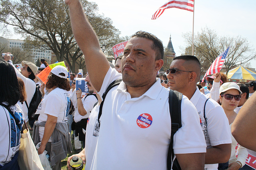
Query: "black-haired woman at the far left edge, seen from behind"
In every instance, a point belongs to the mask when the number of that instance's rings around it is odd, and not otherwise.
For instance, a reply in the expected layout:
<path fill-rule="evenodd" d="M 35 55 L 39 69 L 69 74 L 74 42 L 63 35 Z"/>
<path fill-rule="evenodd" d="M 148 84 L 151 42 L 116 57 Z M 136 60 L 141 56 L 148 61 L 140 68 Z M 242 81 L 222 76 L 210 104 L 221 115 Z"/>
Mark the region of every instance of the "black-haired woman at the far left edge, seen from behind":
<path fill-rule="evenodd" d="M 19 170 L 18 151 L 24 119 L 17 102 L 18 80 L 13 66 L 0 61 L 0 169 Z"/>

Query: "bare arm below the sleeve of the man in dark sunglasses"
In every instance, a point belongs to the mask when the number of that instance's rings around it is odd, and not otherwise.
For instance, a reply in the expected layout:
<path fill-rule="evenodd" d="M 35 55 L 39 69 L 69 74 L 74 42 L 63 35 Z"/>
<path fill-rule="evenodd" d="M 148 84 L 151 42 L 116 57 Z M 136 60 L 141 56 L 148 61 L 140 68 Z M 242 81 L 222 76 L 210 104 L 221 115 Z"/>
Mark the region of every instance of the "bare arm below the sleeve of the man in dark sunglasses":
<path fill-rule="evenodd" d="M 230 144 L 231 145 L 231 144 Z M 231 146 L 230 146 L 231 152 Z M 225 152 L 219 148 L 206 149 L 205 164 L 218 164 L 228 162 L 230 158 L 230 152 Z"/>

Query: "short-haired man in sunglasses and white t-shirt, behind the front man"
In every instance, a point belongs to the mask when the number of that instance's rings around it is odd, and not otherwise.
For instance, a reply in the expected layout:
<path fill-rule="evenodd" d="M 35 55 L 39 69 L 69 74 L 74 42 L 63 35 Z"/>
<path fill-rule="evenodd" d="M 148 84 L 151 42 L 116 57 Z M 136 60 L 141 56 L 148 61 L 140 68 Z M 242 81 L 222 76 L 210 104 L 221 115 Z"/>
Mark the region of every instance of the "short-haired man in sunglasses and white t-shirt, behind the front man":
<path fill-rule="evenodd" d="M 222 107 L 212 99 L 207 100 L 197 88 L 200 71 L 199 60 L 194 56 L 185 55 L 175 57 L 166 73 L 170 89 L 187 96 L 196 107 L 207 145 L 204 168 L 217 170 L 218 163 L 228 162 L 230 158 L 230 128 Z"/>

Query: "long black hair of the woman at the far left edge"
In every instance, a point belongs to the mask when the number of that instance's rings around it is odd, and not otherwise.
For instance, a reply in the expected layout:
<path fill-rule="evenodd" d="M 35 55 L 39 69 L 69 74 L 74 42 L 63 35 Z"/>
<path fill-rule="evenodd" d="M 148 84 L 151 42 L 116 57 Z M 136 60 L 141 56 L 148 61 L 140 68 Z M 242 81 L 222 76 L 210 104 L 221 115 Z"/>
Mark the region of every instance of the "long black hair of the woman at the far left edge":
<path fill-rule="evenodd" d="M 13 66 L 0 60 L 0 103 L 15 105 L 20 98 L 18 79 Z"/>

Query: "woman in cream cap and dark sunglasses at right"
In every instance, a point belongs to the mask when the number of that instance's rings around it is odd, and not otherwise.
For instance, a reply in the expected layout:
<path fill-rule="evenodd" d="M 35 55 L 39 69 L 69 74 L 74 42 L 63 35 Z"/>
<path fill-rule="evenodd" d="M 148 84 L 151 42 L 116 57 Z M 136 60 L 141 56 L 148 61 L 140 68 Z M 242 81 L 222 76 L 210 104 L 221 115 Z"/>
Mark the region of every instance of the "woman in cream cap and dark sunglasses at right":
<path fill-rule="evenodd" d="M 237 113 L 234 109 L 238 106 L 238 103 L 241 99 L 241 90 L 239 86 L 234 82 L 226 82 L 220 86 L 220 103 L 221 107 L 224 109 L 226 116 L 228 117 L 228 122 L 231 125 L 236 118 Z M 228 169 L 230 170 L 238 170 L 242 168 L 245 164 L 245 160 L 248 156 L 248 152 L 246 148 L 238 145 L 236 139 L 232 136 L 232 145 L 231 145 L 231 156 L 228 161 Z M 238 149 L 236 150 L 236 146 L 238 145 Z M 236 158 L 236 153 L 238 154 Z"/>

